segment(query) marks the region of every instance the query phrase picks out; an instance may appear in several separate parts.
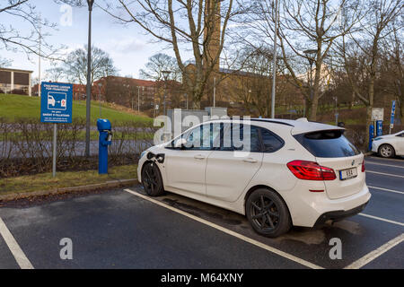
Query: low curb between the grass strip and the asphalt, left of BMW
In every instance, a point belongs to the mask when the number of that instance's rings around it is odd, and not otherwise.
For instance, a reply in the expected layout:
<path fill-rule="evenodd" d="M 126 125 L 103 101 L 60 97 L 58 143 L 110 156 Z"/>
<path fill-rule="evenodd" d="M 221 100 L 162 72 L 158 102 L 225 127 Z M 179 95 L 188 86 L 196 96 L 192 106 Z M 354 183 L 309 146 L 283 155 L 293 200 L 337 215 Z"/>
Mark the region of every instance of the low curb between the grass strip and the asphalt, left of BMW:
<path fill-rule="evenodd" d="M 80 186 L 80 187 L 60 187 L 56 189 L 43 190 L 43 191 L 32 191 L 32 192 L 24 192 L 24 193 L 13 193 L 7 195 L 0 195 L 0 202 L 12 201 L 23 198 L 30 198 L 36 196 L 52 196 L 52 195 L 63 195 L 67 193 L 74 193 L 79 191 L 95 191 L 105 188 L 111 187 L 131 187 L 139 182 L 137 179 L 120 179 L 120 180 L 112 180 L 107 181 L 105 183 L 98 183 L 88 186 Z"/>

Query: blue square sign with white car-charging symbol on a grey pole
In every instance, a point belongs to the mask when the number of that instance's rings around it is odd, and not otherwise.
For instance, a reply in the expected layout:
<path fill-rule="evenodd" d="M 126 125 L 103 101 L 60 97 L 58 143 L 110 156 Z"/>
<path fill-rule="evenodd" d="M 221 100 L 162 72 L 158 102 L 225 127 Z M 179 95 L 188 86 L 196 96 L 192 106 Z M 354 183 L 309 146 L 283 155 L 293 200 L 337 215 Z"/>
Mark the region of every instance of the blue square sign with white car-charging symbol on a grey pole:
<path fill-rule="evenodd" d="M 40 85 L 40 121 L 42 123 L 71 123 L 73 85 L 47 83 Z"/>

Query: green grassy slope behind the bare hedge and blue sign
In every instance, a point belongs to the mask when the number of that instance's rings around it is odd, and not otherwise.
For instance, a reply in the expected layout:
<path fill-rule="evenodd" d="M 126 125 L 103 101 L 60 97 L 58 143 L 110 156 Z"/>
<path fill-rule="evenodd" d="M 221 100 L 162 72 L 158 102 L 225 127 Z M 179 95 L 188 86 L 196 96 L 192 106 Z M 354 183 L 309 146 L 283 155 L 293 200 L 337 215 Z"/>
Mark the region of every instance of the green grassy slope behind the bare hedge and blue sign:
<path fill-rule="evenodd" d="M 98 102 L 92 102 L 92 126 L 96 125 L 97 118 L 100 117 L 100 106 Z M 40 120 L 40 98 L 11 94 L 0 94 L 0 117 L 5 117 L 13 122 L 16 117 L 35 117 Z M 85 118 L 85 102 L 81 100 L 73 101 L 73 118 Z M 150 122 L 152 118 L 143 115 L 136 115 L 117 109 L 111 109 L 107 104 L 101 104 L 101 117 L 108 118 L 112 123 L 119 121 Z"/>

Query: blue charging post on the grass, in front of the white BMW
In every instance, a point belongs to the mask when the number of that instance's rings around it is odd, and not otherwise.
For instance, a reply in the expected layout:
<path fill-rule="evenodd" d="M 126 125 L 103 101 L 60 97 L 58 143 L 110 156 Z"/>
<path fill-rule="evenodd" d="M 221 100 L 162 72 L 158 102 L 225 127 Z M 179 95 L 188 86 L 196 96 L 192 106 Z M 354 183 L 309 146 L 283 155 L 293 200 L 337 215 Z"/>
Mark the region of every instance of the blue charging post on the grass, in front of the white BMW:
<path fill-rule="evenodd" d="M 112 143 L 110 120 L 99 118 L 97 120 L 99 135 L 98 142 L 98 173 L 108 173 L 108 146 Z"/>

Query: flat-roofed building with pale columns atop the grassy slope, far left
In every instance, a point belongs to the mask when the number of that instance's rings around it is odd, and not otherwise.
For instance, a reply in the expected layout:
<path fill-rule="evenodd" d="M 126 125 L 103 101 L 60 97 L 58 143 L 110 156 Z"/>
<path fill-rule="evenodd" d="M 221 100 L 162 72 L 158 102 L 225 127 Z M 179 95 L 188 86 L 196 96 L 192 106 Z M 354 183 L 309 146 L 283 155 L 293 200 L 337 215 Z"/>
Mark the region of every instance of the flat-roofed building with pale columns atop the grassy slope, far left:
<path fill-rule="evenodd" d="M 0 93 L 14 93 L 31 97 L 32 71 L 0 68 Z"/>

